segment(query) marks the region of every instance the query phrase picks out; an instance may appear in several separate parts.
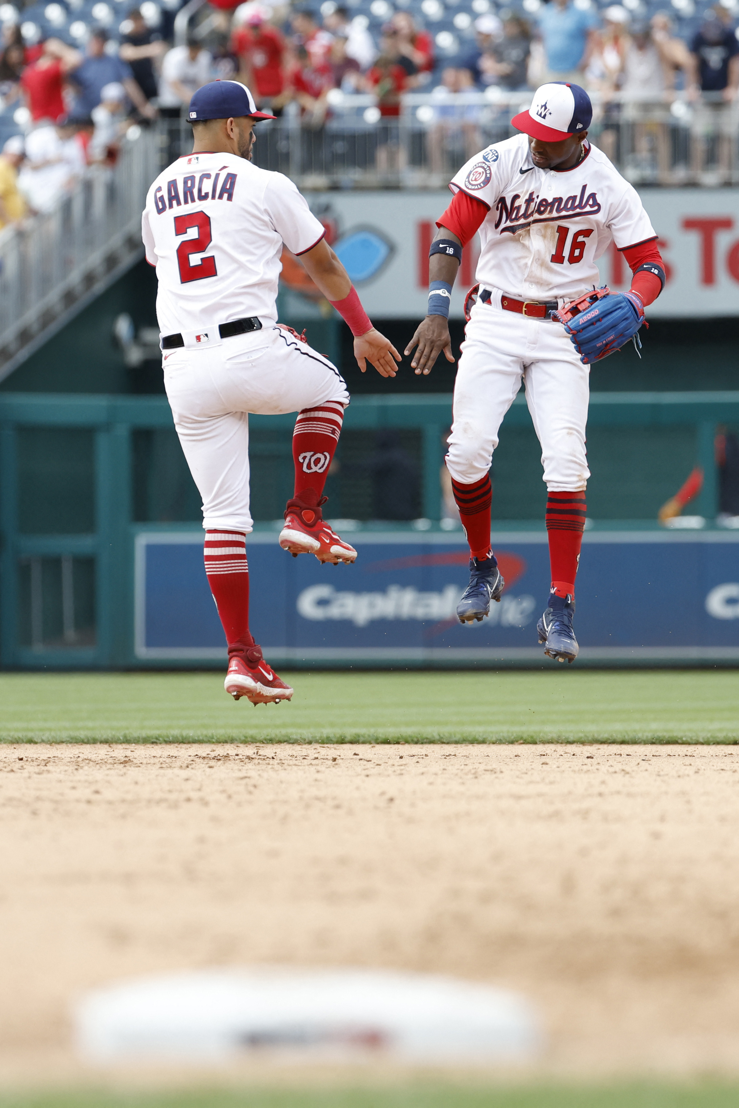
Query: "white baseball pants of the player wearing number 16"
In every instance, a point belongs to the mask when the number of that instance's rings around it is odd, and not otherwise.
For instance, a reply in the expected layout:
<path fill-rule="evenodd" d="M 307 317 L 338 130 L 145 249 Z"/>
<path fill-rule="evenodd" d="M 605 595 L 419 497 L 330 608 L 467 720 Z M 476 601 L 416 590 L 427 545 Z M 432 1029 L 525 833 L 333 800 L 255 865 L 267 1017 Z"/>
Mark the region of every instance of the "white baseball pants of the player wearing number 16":
<path fill-rule="evenodd" d="M 466 326 L 454 383 L 454 420 L 447 466 L 472 484 L 490 469 L 497 432 L 523 379 L 542 447 L 550 492 L 584 489 L 589 367 L 583 366 L 561 324 L 501 308 L 501 293 L 478 301 Z"/>

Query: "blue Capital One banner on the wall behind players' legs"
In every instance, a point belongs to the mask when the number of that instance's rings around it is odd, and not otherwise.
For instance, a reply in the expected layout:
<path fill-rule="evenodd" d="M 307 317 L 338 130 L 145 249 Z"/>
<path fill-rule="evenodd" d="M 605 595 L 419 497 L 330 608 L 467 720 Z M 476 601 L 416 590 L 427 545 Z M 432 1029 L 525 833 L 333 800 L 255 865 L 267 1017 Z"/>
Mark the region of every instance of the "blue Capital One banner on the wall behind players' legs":
<path fill-rule="evenodd" d="M 291 558 L 277 534 L 247 536 L 250 625 L 274 664 L 464 665 L 542 660 L 536 622 L 548 587 L 546 534 L 493 535 L 506 588 L 482 623 L 461 625 L 460 532 L 352 535 L 351 567 Z M 203 534 L 143 532 L 135 553 L 140 659 L 225 659 L 203 568 Z M 739 534 L 584 536 L 577 577 L 581 659 L 739 661 Z"/>

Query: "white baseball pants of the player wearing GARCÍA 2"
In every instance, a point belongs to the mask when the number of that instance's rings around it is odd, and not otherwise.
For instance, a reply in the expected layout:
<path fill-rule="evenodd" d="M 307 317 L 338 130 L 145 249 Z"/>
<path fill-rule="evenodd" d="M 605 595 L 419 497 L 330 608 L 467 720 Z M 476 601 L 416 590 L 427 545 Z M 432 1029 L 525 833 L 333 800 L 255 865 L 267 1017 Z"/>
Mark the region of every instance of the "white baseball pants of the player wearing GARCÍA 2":
<path fill-rule="evenodd" d="M 165 350 L 163 366 L 179 443 L 203 497 L 206 531 L 253 530 L 249 412 L 277 416 L 328 400 L 349 403 L 336 366 L 281 327 Z"/>

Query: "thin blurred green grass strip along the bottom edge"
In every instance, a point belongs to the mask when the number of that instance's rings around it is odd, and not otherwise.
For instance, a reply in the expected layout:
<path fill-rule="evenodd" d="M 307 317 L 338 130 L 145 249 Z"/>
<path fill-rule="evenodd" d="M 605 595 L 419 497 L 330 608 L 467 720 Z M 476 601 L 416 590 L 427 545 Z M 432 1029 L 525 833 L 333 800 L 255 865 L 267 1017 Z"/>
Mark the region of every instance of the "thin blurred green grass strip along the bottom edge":
<path fill-rule="evenodd" d="M 0 1108 L 736 1108 L 739 1086 L 70 1092 L 0 1096 Z"/>

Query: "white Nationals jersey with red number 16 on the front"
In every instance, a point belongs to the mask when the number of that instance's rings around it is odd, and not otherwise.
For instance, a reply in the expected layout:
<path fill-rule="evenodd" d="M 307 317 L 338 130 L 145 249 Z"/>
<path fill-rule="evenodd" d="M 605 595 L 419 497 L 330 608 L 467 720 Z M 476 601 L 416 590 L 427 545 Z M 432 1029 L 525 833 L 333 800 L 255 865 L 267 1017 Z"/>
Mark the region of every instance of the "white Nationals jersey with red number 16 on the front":
<path fill-rule="evenodd" d="M 450 184 L 490 208 L 480 227 L 475 279 L 522 300 L 569 300 L 601 284 L 597 259 L 656 238 L 639 195 L 585 141 L 572 170 L 540 170 L 528 138 L 514 135 L 475 154 Z"/>

